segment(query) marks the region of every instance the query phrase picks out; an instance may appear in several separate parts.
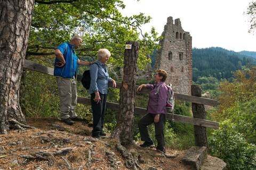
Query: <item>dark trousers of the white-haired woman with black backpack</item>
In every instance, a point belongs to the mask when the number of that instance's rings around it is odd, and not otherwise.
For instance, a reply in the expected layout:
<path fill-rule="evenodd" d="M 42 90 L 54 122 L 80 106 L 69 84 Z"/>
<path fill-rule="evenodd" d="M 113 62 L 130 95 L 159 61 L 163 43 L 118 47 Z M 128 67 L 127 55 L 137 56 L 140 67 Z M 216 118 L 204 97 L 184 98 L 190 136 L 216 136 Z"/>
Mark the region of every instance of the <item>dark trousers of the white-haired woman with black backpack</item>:
<path fill-rule="evenodd" d="M 93 130 L 92 135 L 99 135 L 102 132 L 104 125 L 104 114 L 106 110 L 107 94 L 101 94 L 101 100 L 97 104 L 93 99 L 95 94 L 91 94 L 91 104 L 92 104 L 92 115 L 93 115 Z"/>

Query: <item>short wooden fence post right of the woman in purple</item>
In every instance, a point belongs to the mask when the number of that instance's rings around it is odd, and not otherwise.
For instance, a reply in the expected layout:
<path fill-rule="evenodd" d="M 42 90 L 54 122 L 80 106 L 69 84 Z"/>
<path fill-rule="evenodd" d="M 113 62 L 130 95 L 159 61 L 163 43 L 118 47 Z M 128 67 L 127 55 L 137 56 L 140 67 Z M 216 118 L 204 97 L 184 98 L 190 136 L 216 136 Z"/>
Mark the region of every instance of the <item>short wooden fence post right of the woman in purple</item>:
<path fill-rule="evenodd" d="M 202 97 L 202 89 L 199 85 L 191 85 L 191 95 Z M 195 118 L 205 119 L 205 108 L 202 104 L 192 103 L 192 112 Z M 206 128 L 194 125 L 195 144 L 199 147 L 207 147 Z"/>

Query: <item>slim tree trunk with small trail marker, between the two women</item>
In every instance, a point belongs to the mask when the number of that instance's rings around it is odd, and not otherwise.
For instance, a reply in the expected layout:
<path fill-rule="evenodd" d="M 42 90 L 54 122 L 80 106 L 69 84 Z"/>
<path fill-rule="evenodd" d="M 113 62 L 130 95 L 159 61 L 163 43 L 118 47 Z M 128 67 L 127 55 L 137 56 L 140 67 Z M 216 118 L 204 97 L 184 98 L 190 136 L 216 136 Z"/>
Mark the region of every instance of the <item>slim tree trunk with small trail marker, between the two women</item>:
<path fill-rule="evenodd" d="M 111 137 L 119 139 L 122 145 L 129 145 L 133 138 L 133 115 L 136 93 L 136 70 L 139 45 L 137 42 L 127 42 L 132 49 L 124 52 L 124 77 L 120 88 L 119 119 Z"/>

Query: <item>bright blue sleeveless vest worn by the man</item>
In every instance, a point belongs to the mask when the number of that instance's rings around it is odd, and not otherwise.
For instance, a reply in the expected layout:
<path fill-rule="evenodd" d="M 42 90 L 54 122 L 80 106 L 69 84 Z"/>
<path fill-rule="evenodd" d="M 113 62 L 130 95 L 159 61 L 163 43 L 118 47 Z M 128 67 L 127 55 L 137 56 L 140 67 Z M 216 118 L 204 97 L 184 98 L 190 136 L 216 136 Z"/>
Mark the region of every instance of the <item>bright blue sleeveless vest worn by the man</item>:
<path fill-rule="evenodd" d="M 78 74 L 78 57 L 76 56 L 74 46 L 67 42 L 62 43 L 60 46 L 57 47 L 57 49 L 59 49 L 60 52 L 63 54 L 66 64 L 62 67 L 55 66 L 58 62 L 60 62 L 58 58 L 55 58 L 53 75 L 68 79 L 72 79 L 74 77 L 76 78 Z"/>

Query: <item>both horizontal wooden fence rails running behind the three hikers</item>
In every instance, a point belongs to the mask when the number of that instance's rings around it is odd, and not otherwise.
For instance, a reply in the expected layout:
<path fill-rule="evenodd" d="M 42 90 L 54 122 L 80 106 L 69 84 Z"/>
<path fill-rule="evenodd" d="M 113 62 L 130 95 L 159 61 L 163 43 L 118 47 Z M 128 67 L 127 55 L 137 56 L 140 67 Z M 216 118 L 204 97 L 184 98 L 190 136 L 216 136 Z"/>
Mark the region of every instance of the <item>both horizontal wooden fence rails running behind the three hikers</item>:
<path fill-rule="evenodd" d="M 32 61 L 25 60 L 23 67 L 25 69 L 33 70 L 36 72 L 53 75 L 53 69 L 51 67 L 43 66 L 43 65 L 37 64 Z M 80 81 L 81 78 L 82 78 L 82 76 L 78 75 L 77 81 Z M 109 84 L 109 87 L 111 87 L 111 84 Z M 121 83 L 117 82 L 117 88 L 120 88 L 120 87 L 121 87 Z M 148 94 L 149 90 L 142 89 L 140 93 Z M 201 105 L 218 106 L 218 104 L 219 104 L 217 100 L 203 98 L 203 97 L 190 96 L 190 95 L 185 95 L 185 94 L 179 94 L 177 92 L 174 92 L 174 97 L 175 97 L 175 100 L 188 101 L 191 103 L 201 104 Z M 84 105 L 91 105 L 90 99 L 84 98 L 84 97 L 78 97 L 77 103 L 84 104 Z M 107 108 L 118 111 L 119 104 L 107 102 Z M 140 107 L 135 107 L 134 113 L 139 114 L 139 115 L 145 115 L 146 109 L 140 108 Z M 174 117 L 175 122 L 189 123 L 189 124 L 203 126 L 206 128 L 213 128 L 213 129 L 219 128 L 218 122 L 207 121 L 207 120 L 200 119 L 200 118 L 194 118 L 194 117 L 188 117 L 188 116 L 167 113 L 167 116 L 166 116 L 167 120 L 172 120 L 173 117 Z"/>

